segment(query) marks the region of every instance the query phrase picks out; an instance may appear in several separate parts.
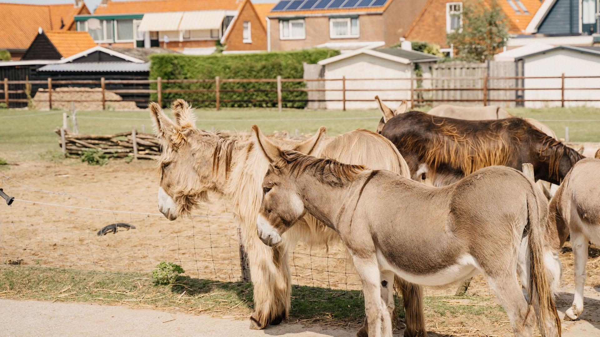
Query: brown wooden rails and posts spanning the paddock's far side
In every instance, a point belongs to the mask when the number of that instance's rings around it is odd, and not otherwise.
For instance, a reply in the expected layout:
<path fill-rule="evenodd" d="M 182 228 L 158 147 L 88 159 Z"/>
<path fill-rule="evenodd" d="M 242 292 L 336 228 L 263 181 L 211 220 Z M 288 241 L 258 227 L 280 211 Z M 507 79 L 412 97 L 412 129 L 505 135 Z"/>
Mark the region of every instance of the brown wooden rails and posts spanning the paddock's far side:
<path fill-rule="evenodd" d="M 581 98 L 570 98 L 566 95 L 568 92 L 573 91 L 600 91 L 600 85 L 593 86 L 567 86 L 566 82 L 569 79 L 599 79 L 600 76 L 508 76 L 508 77 L 499 77 L 499 76 L 487 76 L 485 74 L 481 77 L 412 77 L 412 78 L 391 78 L 391 79 L 376 79 L 376 78 L 346 78 L 341 77 L 339 79 L 283 79 L 281 76 L 277 76 L 275 79 L 221 79 L 220 77 L 215 77 L 215 79 L 170 79 L 163 80 L 158 77 L 155 80 L 105 80 L 102 78 L 100 81 L 97 80 L 52 80 L 51 78 L 47 79 L 47 81 L 10 81 L 8 79 L 4 79 L 4 90 L 0 89 L 0 102 L 7 104 L 10 106 L 10 103 L 26 103 L 28 100 L 23 98 L 15 98 L 14 95 L 17 94 L 25 94 L 26 91 L 24 89 L 14 89 L 14 85 L 26 85 L 26 84 L 36 84 L 36 85 L 45 85 L 46 89 L 42 88 L 45 92 L 48 92 L 48 106 L 50 109 L 53 107 L 53 103 L 64 103 L 64 102 L 99 102 L 101 103 L 101 107 L 103 110 L 107 109 L 107 102 L 118 102 L 121 100 L 111 100 L 107 98 L 107 93 L 111 94 L 140 94 L 140 95 L 149 95 L 156 94 L 155 100 L 158 104 L 163 104 L 163 94 L 199 94 L 199 93 L 208 93 L 214 94 L 214 99 L 197 99 L 190 100 L 191 102 L 214 102 L 214 106 L 217 110 L 221 109 L 223 103 L 274 103 L 277 104 L 277 108 L 281 111 L 283 107 L 283 103 L 289 102 L 340 102 L 343 110 L 346 110 L 347 102 L 368 102 L 373 101 L 372 98 L 356 98 L 355 93 L 359 92 L 373 92 L 373 97 L 377 94 L 377 92 L 398 92 L 397 97 L 382 97 L 383 100 L 386 101 L 401 101 L 406 100 L 406 96 L 408 96 L 408 101 L 410 101 L 410 106 L 414 107 L 415 103 L 435 103 L 435 102 L 473 102 L 473 103 L 481 103 L 484 106 L 487 106 L 490 103 L 498 103 L 498 102 L 514 102 L 514 103 L 524 103 L 524 102 L 560 102 L 560 106 L 564 107 L 567 102 L 600 102 L 600 95 L 595 95 L 595 97 L 589 99 L 581 99 Z M 449 88 L 440 88 L 433 86 L 422 86 L 422 83 L 433 83 L 433 81 L 445 81 L 445 80 L 462 80 L 471 81 L 471 82 L 481 82 L 481 86 L 454 86 Z M 503 82 L 497 83 L 508 83 L 508 81 L 512 80 L 523 80 L 521 85 L 515 86 L 514 84 L 511 86 L 498 86 L 493 85 L 491 81 L 494 80 L 503 80 Z M 533 85 L 531 88 L 527 88 L 524 85 L 524 80 L 560 80 L 560 86 L 551 86 L 548 88 L 542 88 L 539 85 Z M 373 81 L 377 81 L 377 83 L 382 83 L 382 86 L 377 87 L 373 86 Z M 396 88 L 385 88 L 383 83 L 387 83 L 389 81 L 395 81 L 400 83 L 406 83 L 406 86 L 396 87 Z M 323 82 L 323 83 L 338 83 L 336 86 L 332 86 L 328 88 L 325 85 L 325 88 L 284 88 L 284 83 L 304 83 L 308 82 Z M 169 88 L 163 89 L 163 84 L 169 83 Z M 182 85 L 187 84 L 199 84 L 206 83 L 212 88 L 173 88 L 173 85 L 177 83 Z M 273 83 L 275 85 L 274 88 L 253 88 L 253 89 L 235 89 L 235 88 L 223 88 L 223 83 Z M 365 83 L 363 88 L 357 88 L 357 83 L 361 84 Z M 496 82 L 494 82 L 496 83 Z M 558 82 L 557 82 L 558 83 Z M 600 83 L 600 82 L 598 82 Z M 13 85 L 13 89 L 9 89 L 9 85 Z M 97 85 L 97 87 L 101 92 L 101 99 L 98 100 L 89 100 L 85 98 L 85 95 L 81 95 L 82 98 L 77 100 L 61 100 L 58 97 L 58 88 L 64 86 L 73 86 L 78 87 L 81 85 Z M 107 89 L 108 85 L 155 85 L 156 89 Z M 543 85 L 542 85 L 543 86 Z M 360 85 L 358 85 L 360 87 Z M 1 88 L 1 87 L 0 87 Z M 77 90 L 73 88 L 73 90 L 69 90 L 68 92 L 89 92 L 83 90 Z M 517 96 L 505 95 L 506 93 L 514 93 L 517 91 L 551 91 L 551 92 L 560 92 L 560 95 L 556 94 L 548 94 L 545 97 L 533 97 L 533 98 L 518 98 Z M 57 97 L 53 98 L 53 92 Z M 234 99 L 223 99 L 223 93 L 232 93 L 232 92 L 240 92 L 240 93 L 249 93 L 249 92 L 272 92 L 272 99 L 244 99 L 244 100 L 234 100 Z M 307 92 L 309 95 L 306 99 L 290 99 L 285 98 L 284 92 Z M 319 98 L 317 100 L 310 97 L 311 92 L 337 92 L 339 97 L 336 98 Z M 470 95 L 464 95 L 464 97 L 456 95 L 452 95 L 451 97 L 443 96 L 443 95 L 433 95 L 434 93 L 450 93 L 450 92 L 470 92 Z M 490 92 L 499 92 L 499 94 L 494 94 L 490 96 Z M 403 93 L 406 93 L 403 97 Z M 430 95 L 424 95 L 423 93 L 429 93 Z M 502 94 L 505 93 L 505 94 Z M 35 95 L 35 92 L 31 93 Z M 13 97 L 11 97 L 11 95 Z M 512 97 L 512 98 L 506 98 Z M 127 98 L 124 101 L 137 101 L 137 102 L 145 102 L 148 99 L 145 98 Z"/>

